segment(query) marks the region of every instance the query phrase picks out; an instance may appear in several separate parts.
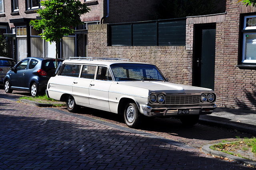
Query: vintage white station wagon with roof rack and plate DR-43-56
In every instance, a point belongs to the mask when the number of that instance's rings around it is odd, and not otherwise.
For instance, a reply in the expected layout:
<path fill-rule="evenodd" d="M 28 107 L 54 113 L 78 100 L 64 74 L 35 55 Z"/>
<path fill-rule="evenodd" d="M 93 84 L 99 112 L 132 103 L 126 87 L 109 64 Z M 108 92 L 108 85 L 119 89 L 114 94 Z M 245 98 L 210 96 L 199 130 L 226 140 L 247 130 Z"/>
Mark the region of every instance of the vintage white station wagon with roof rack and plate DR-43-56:
<path fill-rule="evenodd" d="M 194 125 L 216 108 L 212 89 L 170 83 L 153 64 L 70 57 L 56 72 L 48 81 L 48 97 L 66 101 L 70 112 L 84 106 L 123 114 L 131 128 L 145 116 L 178 117 Z"/>

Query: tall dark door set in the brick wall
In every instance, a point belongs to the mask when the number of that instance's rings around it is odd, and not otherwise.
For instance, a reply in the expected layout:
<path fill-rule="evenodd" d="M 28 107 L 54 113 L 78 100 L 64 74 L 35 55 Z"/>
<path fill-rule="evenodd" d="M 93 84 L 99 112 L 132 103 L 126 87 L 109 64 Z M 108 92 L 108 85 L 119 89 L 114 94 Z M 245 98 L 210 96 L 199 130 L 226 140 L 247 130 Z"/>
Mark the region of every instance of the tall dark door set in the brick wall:
<path fill-rule="evenodd" d="M 216 25 L 195 26 L 193 85 L 214 89 Z"/>

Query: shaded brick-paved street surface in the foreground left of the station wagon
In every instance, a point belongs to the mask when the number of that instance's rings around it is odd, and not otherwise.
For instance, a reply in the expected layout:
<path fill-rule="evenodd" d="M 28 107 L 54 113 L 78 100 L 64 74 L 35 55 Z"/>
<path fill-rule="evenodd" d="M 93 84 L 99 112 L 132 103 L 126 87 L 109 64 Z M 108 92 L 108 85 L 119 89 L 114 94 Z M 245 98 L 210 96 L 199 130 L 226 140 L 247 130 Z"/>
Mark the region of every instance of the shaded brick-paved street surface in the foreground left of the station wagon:
<path fill-rule="evenodd" d="M 1 99 L 0 169 L 246 169 L 94 121 Z"/>

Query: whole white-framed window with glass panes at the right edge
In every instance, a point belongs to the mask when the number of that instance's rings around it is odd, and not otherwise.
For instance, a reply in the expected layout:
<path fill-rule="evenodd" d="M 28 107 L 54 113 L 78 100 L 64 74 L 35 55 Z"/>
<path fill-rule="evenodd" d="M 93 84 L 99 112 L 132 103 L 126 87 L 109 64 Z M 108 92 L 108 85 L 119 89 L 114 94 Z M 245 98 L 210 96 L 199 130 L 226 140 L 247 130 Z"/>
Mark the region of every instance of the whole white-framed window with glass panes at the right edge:
<path fill-rule="evenodd" d="M 256 63 L 256 15 L 244 17 L 242 63 Z"/>

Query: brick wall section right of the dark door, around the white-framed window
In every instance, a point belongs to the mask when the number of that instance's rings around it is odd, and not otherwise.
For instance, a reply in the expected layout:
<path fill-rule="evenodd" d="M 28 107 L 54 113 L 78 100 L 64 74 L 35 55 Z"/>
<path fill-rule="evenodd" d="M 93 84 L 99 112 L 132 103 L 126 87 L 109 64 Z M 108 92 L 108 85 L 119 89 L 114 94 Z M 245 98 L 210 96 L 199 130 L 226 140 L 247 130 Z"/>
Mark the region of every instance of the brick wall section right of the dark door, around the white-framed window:
<path fill-rule="evenodd" d="M 224 53 L 219 60 L 220 75 L 217 79 L 217 92 L 222 97 L 220 103 L 224 107 L 244 108 L 256 110 L 256 70 L 241 69 L 238 65 L 240 14 L 256 12 L 256 8 L 246 7 L 237 0 L 227 0 L 226 2 L 226 22 L 222 46 Z M 222 31 L 223 34 L 223 31 Z M 220 40 L 221 41 L 221 40 Z M 242 47 L 240 47 L 242 48 Z M 219 57 L 219 58 L 220 58 Z"/>

